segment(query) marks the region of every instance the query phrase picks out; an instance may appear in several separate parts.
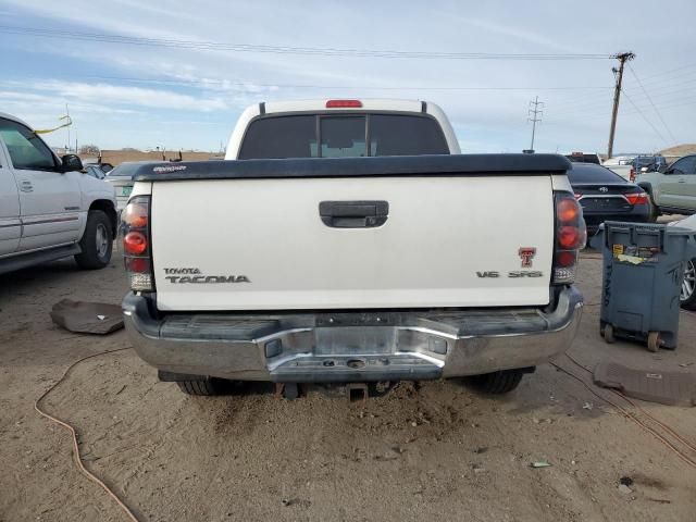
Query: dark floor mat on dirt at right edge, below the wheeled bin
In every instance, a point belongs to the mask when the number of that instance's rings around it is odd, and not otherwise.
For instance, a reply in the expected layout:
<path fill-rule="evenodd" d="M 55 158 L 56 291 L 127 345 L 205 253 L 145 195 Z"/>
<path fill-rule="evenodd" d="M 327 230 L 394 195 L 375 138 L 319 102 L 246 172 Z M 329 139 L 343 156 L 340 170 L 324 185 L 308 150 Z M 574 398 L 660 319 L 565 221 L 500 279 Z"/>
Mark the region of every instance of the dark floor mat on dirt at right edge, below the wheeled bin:
<path fill-rule="evenodd" d="M 634 370 L 616 362 L 597 364 L 595 384 L 629 397 L 670 406 L 696 406 L 696 374 Z"/>

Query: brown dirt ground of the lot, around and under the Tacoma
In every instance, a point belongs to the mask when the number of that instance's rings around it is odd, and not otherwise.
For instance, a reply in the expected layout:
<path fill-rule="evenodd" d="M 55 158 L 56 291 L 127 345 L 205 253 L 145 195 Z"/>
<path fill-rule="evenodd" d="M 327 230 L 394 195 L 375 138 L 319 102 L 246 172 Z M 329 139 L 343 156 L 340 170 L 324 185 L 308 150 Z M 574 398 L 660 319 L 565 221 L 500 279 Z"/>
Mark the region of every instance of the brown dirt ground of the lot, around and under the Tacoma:
<path fill-rule="evenodd" d="M 597 254 L 584 256 L 587 306 L 570 353 L 591 368 L 610 359 L 696 372 L 694 313 L 681 314 L 676 351 L 601 340 L 599 268 Z M 67 260 L 0 276 L 1 521 L 126 520 L 77 471 L 66 430 L 33 409 L 74 360 L 128 346 L 123 332 L 60 330 L 51 306 L 117 303 L 125 293 L 117 254 L 97 272 Z M 558 363 L 591 382 L 568 358 Z M 551 365 L 504 398 L 456 382 L 405 383 L 364 408 L 263 391 L 188 397 L 126 350 L 80 363 L 45 407 L 76 426 L 88 469 L 142 521 L 696 520 L 696 469 Z M 696 442 L 696 409 L 639 405 Z"/>

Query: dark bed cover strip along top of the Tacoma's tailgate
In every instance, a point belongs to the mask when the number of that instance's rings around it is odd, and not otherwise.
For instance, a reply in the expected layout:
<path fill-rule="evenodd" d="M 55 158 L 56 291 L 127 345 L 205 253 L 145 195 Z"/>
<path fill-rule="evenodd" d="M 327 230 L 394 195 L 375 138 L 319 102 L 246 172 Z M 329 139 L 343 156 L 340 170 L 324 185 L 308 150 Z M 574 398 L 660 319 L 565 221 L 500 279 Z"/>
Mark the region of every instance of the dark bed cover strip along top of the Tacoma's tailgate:
<path fill-rule="evenodd" d="M 281 160 L 144 163 L 136 182 L 261 179 L 290 177 L 542 176 L 564 174 L 571 163 L 559 154 L 452 154 L 378 158 L 291 158 Z"/>

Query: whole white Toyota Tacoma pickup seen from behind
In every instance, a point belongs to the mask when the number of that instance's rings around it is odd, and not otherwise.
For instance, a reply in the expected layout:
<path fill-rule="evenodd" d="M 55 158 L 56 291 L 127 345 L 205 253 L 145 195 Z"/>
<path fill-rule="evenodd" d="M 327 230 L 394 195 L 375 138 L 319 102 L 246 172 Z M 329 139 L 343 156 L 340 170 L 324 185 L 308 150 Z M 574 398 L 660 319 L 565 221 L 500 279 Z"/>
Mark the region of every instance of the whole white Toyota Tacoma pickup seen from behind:
<path fill-rule="evenodd" d="M 138 167 L 123 213 L 139 356 L 224 380 L 469 377 L 506 393 L 566 351 L 582 210 L 555 154 L 450 154 L 432 103 L 248 109 L 229 161 Z"/>

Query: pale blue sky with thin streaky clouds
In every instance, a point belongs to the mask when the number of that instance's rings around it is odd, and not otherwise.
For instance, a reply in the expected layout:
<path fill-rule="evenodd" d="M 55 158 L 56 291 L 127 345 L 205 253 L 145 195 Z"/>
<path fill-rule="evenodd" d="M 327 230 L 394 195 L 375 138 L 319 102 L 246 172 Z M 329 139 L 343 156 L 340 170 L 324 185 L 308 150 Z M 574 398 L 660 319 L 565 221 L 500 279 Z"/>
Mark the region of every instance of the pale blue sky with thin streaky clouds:
<path fill-rule="evenodd" d="M 695 21 L 693 0 L 659 10 L 638 0 L 0 0 L 0 111 L 46 128 L 69 103 L 73 139 L 77 133 L 83 144 L 219 150 L 250 103 L 417 98 L 445 109 L 462 151 L 514 152 L 530 146 L 527 108 L 538 96 L 536 150 L 602 152 L 616 60 L 438 53 L 631 50 L 614 151 L 649 151 L 696 141 Z M 47 135 L 53 146 L 66 137 Z"/>

